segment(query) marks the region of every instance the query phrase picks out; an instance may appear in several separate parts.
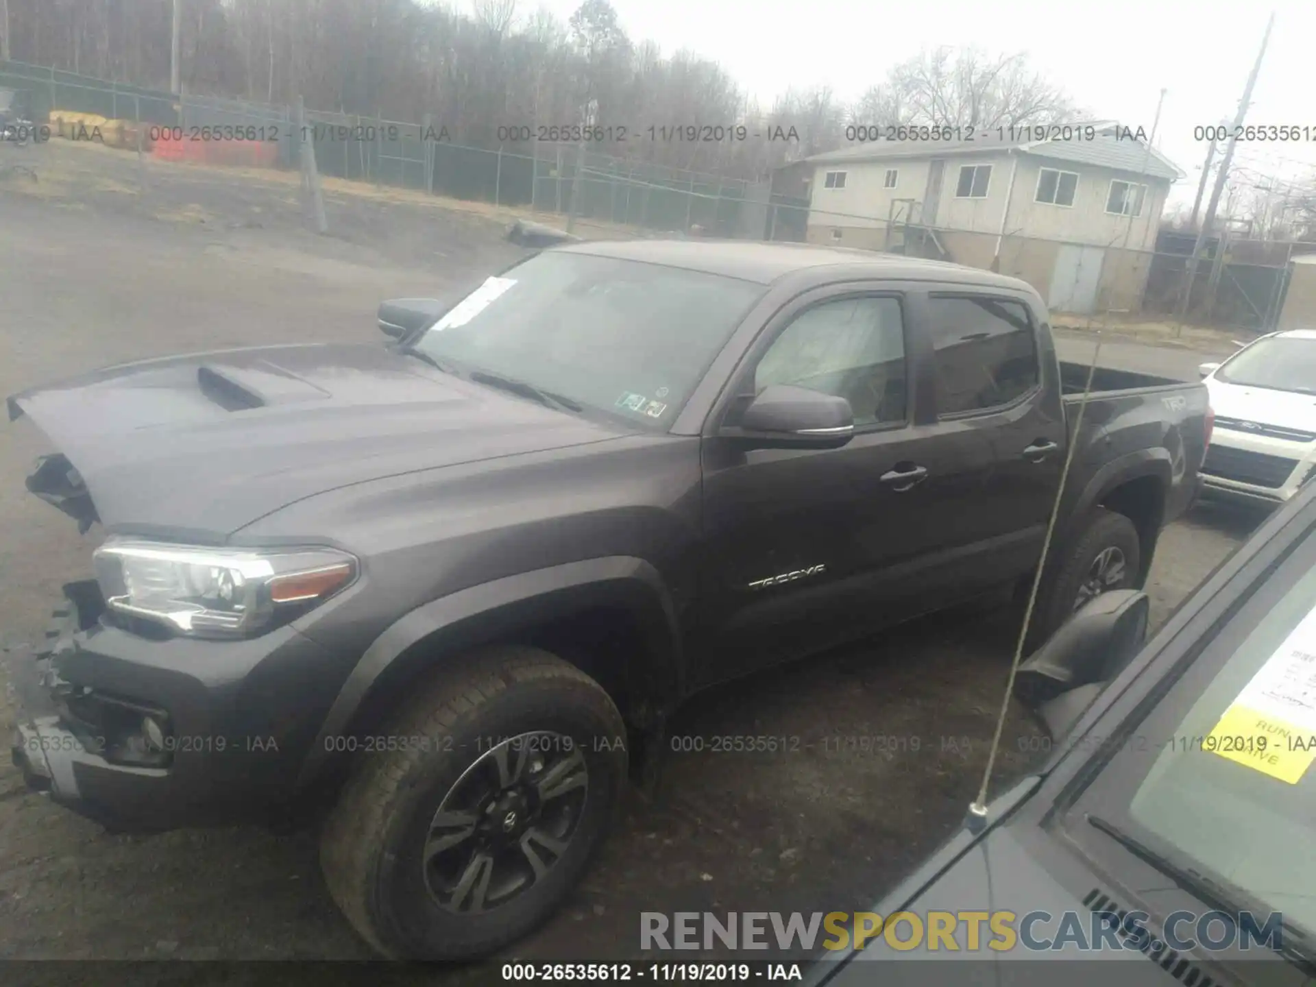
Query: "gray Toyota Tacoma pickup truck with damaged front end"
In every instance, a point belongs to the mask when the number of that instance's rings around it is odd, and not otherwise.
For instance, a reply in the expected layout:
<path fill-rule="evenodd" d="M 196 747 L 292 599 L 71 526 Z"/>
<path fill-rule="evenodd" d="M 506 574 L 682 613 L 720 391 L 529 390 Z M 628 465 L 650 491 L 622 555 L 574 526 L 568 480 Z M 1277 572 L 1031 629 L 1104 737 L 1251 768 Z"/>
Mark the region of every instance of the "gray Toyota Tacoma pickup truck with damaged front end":
<path fill-rule="evenodd" d="M 1026 583 L 1140 587 L 1200 383 L 1057 361 L 1012 278 L 824 247 L 572 243 L 390 338 L 146 361 L 9 399 L 84 528 L 11 657 L 30 783 L 117 828 L 322 821 L 392 957 L 553 913 L 696 690 Z"/>

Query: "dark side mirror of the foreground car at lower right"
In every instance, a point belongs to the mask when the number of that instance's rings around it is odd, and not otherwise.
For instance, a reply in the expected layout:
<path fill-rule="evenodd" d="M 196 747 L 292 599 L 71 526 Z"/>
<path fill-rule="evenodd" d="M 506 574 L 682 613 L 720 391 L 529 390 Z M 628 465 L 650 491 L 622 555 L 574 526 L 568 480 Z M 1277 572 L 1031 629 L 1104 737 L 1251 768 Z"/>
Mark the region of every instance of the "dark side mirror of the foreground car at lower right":
<path fill-rule="evenodd" d="M 1148 633 L 1148 595 L 1113 590 L 1090 600 L 1019 666 L 1015 697 L 1053 738 L 1063 737 L 1105 684 L 1128 666 Z"/>

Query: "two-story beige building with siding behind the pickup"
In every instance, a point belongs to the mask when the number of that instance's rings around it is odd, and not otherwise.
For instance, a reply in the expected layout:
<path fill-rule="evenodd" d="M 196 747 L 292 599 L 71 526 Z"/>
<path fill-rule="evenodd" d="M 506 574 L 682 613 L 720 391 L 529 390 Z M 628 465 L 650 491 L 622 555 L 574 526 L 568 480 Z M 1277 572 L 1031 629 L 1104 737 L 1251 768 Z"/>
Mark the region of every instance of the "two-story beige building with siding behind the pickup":
<path fill-rule="evenodd" d="M 1037 130 L 813 155 L 807 238 L 999 270 L 1062 312 L 1137 309 L 1184 172 L 1113 121 Z"/>

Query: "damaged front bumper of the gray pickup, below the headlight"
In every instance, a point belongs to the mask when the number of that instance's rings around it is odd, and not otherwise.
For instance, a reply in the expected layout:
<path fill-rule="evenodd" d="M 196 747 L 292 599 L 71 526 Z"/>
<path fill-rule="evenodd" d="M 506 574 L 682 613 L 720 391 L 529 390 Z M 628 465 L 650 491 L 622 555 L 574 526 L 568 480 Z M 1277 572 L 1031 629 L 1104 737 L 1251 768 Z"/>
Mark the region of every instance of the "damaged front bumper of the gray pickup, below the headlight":
<path fill-rule="evenodd" d="M 4 654 L 28 786 L 111 829 L 286 821 L 338 662 L 292 628 L 153 640 L 79 612 Z M 147 720 L 151 722 L 147 724 Z"/>

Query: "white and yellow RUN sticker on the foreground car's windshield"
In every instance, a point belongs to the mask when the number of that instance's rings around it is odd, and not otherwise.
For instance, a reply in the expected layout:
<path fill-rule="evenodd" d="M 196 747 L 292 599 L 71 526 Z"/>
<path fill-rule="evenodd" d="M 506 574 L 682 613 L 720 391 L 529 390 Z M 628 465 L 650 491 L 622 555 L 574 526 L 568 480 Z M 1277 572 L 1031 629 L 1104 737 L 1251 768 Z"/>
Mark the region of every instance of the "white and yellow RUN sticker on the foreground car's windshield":
<path fill-rule="evenodd" d="M 1203 749 L 1298 784 L 1316 759 L 1316 611 L 1261 666 Z"/>

